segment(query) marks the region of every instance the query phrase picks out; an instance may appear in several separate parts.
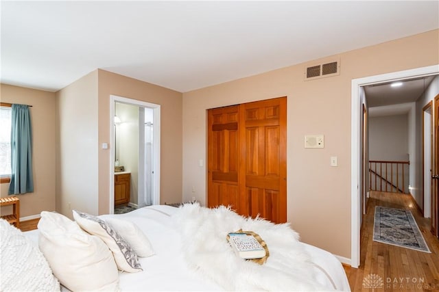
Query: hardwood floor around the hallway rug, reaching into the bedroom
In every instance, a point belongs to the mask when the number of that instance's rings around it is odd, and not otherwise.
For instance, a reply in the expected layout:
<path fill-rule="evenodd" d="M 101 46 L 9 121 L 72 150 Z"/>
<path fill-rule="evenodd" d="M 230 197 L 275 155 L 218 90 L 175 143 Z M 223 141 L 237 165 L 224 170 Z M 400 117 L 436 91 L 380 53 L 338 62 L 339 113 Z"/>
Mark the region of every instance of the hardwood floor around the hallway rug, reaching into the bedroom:
<path fill-rule="evenodd" d="M 373 241 L 375 206 L 412 211 L 431 254 Z M 371 191 L 361 227 L 360 267 L 344 269 L 352 291 L 374 291 L 371 284 L 363 285 L 371 274 L 383 280 L 383 287 L 375 291 L 439 291 L 439 240 L 431 235 L 429 219 L 420 215 L 410 195 Z"/>

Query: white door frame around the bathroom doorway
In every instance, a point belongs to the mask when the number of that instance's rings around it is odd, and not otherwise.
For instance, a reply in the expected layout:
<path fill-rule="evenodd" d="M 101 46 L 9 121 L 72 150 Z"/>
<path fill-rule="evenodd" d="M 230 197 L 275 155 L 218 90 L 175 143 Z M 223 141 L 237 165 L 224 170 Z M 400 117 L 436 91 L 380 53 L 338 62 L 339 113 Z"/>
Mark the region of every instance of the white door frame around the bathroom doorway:
<path fill-rule="evenodd" d="M 151 108 L 154 111 L 153 117 L 153 131 L 154 131 L 154 140 L 152 142 L 152 146 L 154 148 L 154 155 L 152 159 L 152 170 L 154 172 L 154 176 L 152 177 L 152 204 L 160 204 L 160 113 L 161 113 L 161 105 L 156 105 L 154 103 L 147 103 L 145 101 L 138 101 L 132 98 L 126 98 L 123 96 L 110 95 L 110 145 L 115 141 L 115 127 L 114 127 L 114 116 L 115 116 L 115 103 L 125 103 L 127 105 L 134 105 L 137 107 L 147 107 Z M 139 129 L 139 131 L 145 131 L 145 129 Z M 144 137 L 144 135 L 143 135 Z M 144 141 L 144 139 L 143 139 Z M 109 214 L 115 213 L 115 151 L 113 151 L 113 147 L 110 146 L 110 201 L 108 206 Z M 140 176 L 141 172 L 139 172 Z M 139 179 L 139 185 L 143 184 L 143 178 Z M 139 194 L 137 194 L 139 199 Z M 143 200 L 144 201 L 144 200 Z"/>

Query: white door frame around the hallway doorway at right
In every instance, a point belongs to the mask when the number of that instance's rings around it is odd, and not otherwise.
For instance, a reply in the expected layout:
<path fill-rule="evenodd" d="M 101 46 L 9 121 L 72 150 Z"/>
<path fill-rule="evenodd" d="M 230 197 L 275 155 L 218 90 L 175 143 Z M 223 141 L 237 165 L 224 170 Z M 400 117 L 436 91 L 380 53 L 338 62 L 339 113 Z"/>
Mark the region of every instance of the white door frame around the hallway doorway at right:
<path fill-rule="evenodd" d="M 433 66 L 363 77 L 351 81 L 351 267 L 359 267 L 360 261 L 360 190 L 362 178 L 359 177 L 361 174 L 359 167 L 361 165 L 360 126 L 361 113 L 363 111 L 362 103 L 360 103 L 360 87 L 388 81 L 437 75 L 438 73 L 439 64 L 436 64 Z"/>

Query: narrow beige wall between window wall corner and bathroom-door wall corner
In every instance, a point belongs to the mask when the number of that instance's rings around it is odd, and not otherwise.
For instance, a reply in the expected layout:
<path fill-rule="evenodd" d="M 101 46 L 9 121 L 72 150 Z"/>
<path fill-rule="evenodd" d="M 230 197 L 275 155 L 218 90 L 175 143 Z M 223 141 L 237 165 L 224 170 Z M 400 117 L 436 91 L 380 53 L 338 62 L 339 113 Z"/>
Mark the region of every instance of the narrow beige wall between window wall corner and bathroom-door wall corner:
<path fill-rule="evenodd" d="M 57 92 L 56 211 L 97 215 L 97 70 Z"/>

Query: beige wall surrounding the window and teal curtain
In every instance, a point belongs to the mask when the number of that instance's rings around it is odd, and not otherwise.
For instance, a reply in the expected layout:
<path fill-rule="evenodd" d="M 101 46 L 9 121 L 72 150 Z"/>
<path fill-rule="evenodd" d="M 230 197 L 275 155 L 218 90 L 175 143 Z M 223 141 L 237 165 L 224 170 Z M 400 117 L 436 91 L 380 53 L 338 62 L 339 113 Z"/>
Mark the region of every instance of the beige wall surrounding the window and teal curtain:
<path fill-rule="evenodd" d="M 56 95 L 54 92 L 1 84 L 1 101 L 32 105 L 30 109 L 33 135 L 34 192 L 19 195 L 20 217 L 55 211 L 55 123 Z M 2 183 L 1 197 L 8 196 L 9 183 Z M 2 207 L 1 213 L 12 209 Z"/>

